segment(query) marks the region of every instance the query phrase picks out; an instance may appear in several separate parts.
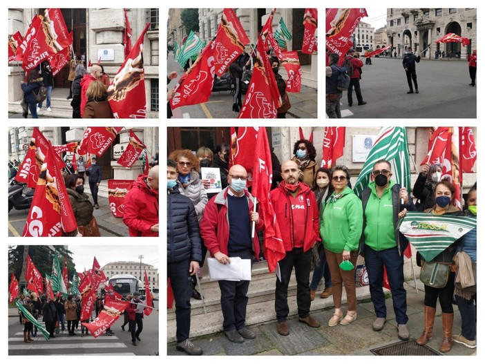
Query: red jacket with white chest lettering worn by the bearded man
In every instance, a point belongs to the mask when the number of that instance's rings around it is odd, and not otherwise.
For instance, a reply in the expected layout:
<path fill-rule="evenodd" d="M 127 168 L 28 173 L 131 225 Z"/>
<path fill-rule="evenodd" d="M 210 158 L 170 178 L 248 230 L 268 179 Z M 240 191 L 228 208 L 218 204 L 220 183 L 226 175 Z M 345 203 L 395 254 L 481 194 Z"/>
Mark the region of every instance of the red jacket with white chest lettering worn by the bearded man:
<path fill-rule="evenodd" d="M 269 198 L 276 213 L 276 220 L 280 226 L 281 238 L 285 251 L 292 251 L 294 248 L 294 234 L 303 234 L 303 251 L 311 249 L 315 242 L 321 241 L 320 222 L 318 221 L 318 205 L 315 194 L 309 186 L 298 182 L 299 189 L 296 198 L 301 199 L 301 207 L 305 209 L 305 220 L 295 221 L 291 209 L 298 207 L 292 206 L 289 193 L 285 190 L 285 182 L 281 182 L 277 189 L 269 193 Z M 304 231 L 295 231 L 295 227 L 303 227 Z M 301 228 L 300 228 L 301 229 Z"/>

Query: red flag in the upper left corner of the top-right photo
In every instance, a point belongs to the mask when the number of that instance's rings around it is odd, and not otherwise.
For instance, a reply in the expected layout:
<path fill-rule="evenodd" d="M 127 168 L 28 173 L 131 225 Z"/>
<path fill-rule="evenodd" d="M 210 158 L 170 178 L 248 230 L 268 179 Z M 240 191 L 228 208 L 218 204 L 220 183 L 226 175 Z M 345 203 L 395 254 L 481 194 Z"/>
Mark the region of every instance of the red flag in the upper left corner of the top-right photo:
<path fill-rule="evenodd" d="M 353 46 L 350 36 L 362 17 L 367 17 L 363 8 L 327 9 L 325 45 L 340 56 L 339 64 L 343 64 L 343 56 Z"/>

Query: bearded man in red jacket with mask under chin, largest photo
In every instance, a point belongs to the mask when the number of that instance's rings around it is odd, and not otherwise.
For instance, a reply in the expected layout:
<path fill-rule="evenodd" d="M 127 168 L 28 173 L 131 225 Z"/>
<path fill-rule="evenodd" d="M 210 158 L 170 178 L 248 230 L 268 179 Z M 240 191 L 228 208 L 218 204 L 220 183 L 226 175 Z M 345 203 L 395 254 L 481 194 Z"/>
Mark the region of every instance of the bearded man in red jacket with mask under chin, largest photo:
<path fill-rule="evenodd" d="M 274 206 L 276 220 L 281 229 L 286 256 L 278 262 L 281 280 L 276 279 L 274 308 L 278 323 L 278 334 L 286 336 L 289 328 L 286 318 L 288 307 L 288 283 L 295 267 L 296 303 L 298 320 L 310 327 L 320 327 L 310 316 L 310 266 L 312 247 L 321 240 L 318 231 L 318 206 L 309 186 L 298 181 L 300 170 L 295 162 L 287 160 L 281 165 L 283 182 L 269 193 Z"/>

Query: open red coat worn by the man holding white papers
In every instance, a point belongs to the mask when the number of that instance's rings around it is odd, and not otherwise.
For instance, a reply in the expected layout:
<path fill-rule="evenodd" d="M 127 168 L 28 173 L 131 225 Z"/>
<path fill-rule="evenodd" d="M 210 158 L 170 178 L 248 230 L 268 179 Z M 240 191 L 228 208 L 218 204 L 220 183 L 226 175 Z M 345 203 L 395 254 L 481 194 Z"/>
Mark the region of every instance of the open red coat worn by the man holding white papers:
<path fill-rule="evenodd" d="M 229 187 L 226 187 L 207 202 L 204 215 L 202 216 L 202 220 L 200 220 L 200 236 L 202 236 L 205 246 L 211 252 L 211 256 L 214 256 L 218 251 L 227 255 L 227 245 L 229 243 L 229 218 L 227 217 L 228 191 Z M 249 213 L 251 213 L 254 208 L 253 197 L 247 190 L 245 190 L 245 195 L 249 204 Z M 265 223 L 260 215 L 259 222 L 256 224 L 256 230 L 261 231 L 264 227 Z M 256 233 L 253 239 L 253 251 L 254 255 L 258 257 L 260 249 Z"/>

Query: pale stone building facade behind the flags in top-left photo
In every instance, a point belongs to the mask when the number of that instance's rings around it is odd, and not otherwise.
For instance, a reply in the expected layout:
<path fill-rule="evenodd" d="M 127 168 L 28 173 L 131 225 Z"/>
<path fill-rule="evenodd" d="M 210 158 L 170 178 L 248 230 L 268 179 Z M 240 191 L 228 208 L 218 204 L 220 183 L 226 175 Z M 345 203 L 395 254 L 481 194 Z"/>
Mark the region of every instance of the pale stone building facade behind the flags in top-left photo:
<path fill-rule="evenodd" d="M 62 14 L 68 30 L 73 30 L 74 52 L 82 55 L 84 66 L 89 61 L 96 64 L 100 55 L 107 55 L 101 64 L 104 72 L 111 79 L 116 75 L 124 62 L 124 11 L 122 8 L 62 8 Z M 8 34 L 12 35 L 19 31 L 25 35 L 32 17 L 42 14 L 44 8 L 9 8 L 8 9 Z M 140 33 L 151 23 L 144 37 L 143 54 L 145 70 L 145 92 L 148 105 L 147 117 L 158 117 L 159 106 L 159 10 L 158 8 L 129 8 L 126 9 L 130 22 L 132 37 L 131 43 L 135 44 Z M 64 67 L 54 77 L 55 88 L 69 88 L 68 67 Z M 25 72 L 12 62 L 8 67 L 8 101 L 21 100 L 22 90 L 20 81 L 25 77 Z M 66 90 L 68 95 L 69 91 Z"/>

